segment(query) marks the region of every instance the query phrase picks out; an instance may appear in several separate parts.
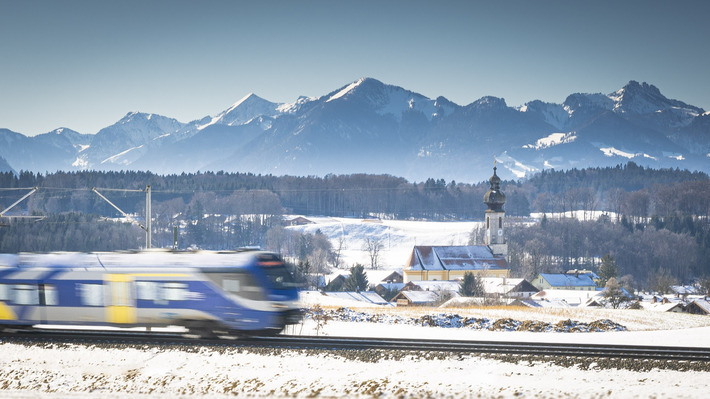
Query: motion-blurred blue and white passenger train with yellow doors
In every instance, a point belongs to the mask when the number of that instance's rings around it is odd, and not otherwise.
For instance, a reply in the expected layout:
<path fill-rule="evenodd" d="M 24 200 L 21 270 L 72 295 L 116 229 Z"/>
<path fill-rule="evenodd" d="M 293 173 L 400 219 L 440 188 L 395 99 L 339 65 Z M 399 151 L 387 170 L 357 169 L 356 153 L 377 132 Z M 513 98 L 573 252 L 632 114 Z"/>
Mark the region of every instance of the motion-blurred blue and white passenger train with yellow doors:
<path fill-rule="evenodd" d="M 179 326 L 199 337 L 298 324 L 298 284 L 272 252 L 0 254 L 0 331 Z"/>

